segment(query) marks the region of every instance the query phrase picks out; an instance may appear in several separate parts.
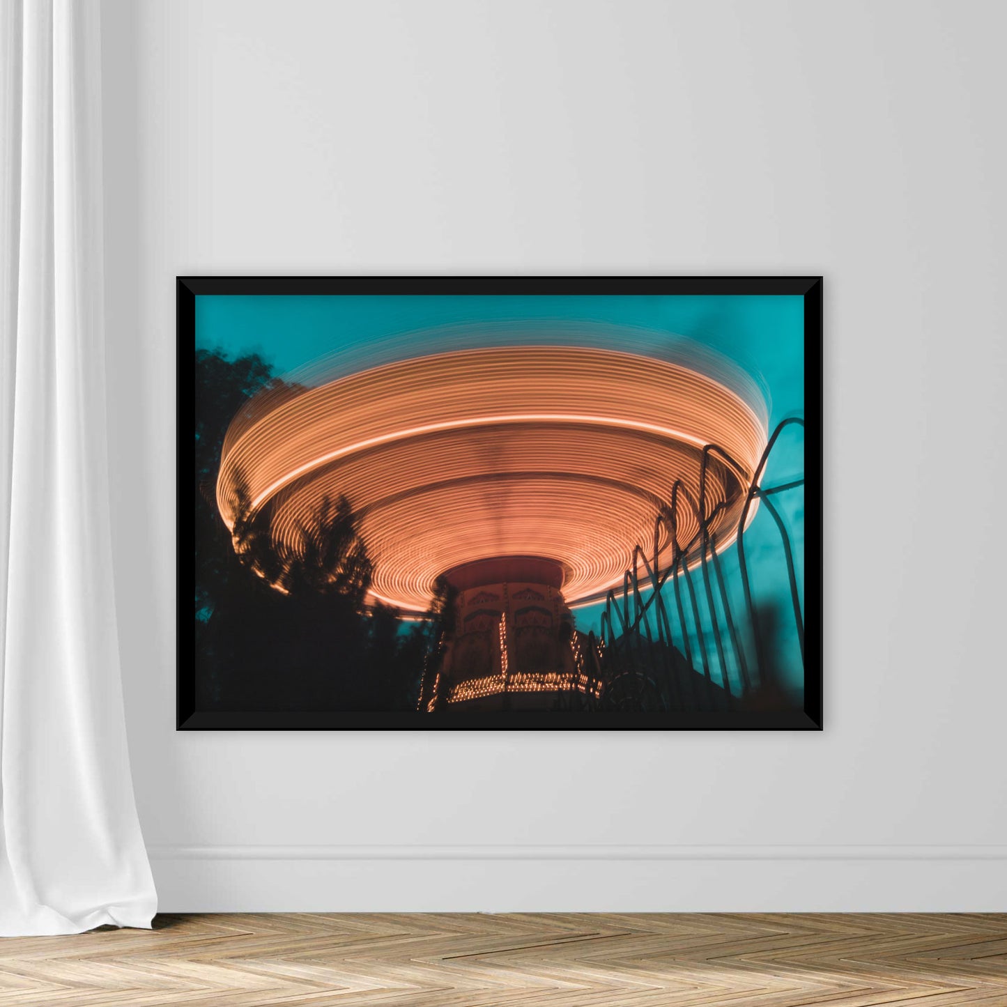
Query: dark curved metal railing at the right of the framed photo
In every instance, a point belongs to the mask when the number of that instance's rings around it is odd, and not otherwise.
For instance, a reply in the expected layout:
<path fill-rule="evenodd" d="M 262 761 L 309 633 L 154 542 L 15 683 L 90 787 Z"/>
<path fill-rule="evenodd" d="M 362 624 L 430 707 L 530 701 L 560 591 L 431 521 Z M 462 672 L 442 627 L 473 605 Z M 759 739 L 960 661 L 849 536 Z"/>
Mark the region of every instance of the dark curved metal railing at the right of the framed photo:
<path fill-rule="evenodd" d="M 793 665 L 798 658 L 778 653 L 781 640 L 796 639 L 803 668 L 805 622 L 799 580 L 804 557 L 796 555 L 790 532 L 774 500 L 779 494 L 803 492 L 805 478 L 802 474 L 774 485 L 764 479 L 781 436 L 798 431 L 803 436 L 804 426 L 803 419 L 789 418 L 773 430 L 733 527 L 716 528 L 726 501 L 714 507 L 707 503 L 711 461 L 739 467 L 722 448 L 709 444 L 702 451 L 698 498 L 681 479 L 675 481 L 667 507 L 655 519 L 650 550 L 636 546 L 621 588 L 610 590 L 605 599 L 600 638 L 596 642 L 592 634 L 587 648 L 595 656 L 590 665 L 602 688 L 593 702 L 593 692 L 577 697 L 574 703 L 579 708 L 731 709 L 756 695 L 764 698 L 769 690 L 778 691 L 779 667 Z M 786 571 L 793 633 L 778 631 L 768 607 L 773 602 L 753 590 L 746 536 L 756 501 L 777 533 L 776 555 Z M 679 529 L 686 516 L 698 531 L 683 542 Z M 720 548 L 731 536 L 737 563 L 733 576 L 725 570 L 729 542 L 726 549 Z M 733 589 L 738 585 L 740 603 Z"/>

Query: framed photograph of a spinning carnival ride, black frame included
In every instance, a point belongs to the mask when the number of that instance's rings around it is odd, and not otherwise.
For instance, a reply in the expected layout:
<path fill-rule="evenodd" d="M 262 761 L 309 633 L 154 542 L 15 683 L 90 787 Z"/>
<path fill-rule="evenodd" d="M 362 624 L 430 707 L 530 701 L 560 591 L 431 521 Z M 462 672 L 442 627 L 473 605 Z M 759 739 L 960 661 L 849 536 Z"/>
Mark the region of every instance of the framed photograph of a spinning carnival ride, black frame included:
<path fill-rule="evenodd" d="M 178 728 L 821 728 L 820 277 L 179 277 L 177 337 Z"/>

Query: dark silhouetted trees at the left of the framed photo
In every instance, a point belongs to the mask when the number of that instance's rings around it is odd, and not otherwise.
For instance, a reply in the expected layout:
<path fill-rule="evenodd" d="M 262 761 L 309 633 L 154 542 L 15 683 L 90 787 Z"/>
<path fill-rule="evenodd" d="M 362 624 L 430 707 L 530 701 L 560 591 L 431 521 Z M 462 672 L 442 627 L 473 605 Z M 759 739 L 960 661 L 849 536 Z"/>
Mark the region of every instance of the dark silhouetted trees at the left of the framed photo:
<path fill-rule="evenodd" d="M 196 353 L 195 604 L 197 704 L 228 710 L 415 709 L 430 630 L 366 608 L 372 563 L 345 495 L 324 498 L 295 541 L 253 512 L 239 476 L 229 530 L 215 479 L 229 425 L 251 397 L 297 386 L 256 355 Z M 347 487 L 351 492 L 352 487 Z"/>

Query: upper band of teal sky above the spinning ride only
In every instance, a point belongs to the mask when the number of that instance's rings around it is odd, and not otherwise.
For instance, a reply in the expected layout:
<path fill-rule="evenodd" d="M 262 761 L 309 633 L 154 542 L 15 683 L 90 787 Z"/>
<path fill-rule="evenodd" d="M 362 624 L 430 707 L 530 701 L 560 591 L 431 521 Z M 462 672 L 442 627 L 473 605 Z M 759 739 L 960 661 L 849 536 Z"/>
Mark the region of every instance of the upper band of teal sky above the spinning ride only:
<path fill-rule="evenodd" d="M 196 346 L 236 356 L 258 352 L 277 373 L 333 352 L 362 367 L 390 337 L 464 323 L 512 319 L 632 326 L 638 345 L 660 352 L 685 337 L 761 379 L 770 425 L 804 411 L 804 300 L 793 296 L 237 296 L 195 299 Z M 538 331 L 537 331 L 538 334 Z M 402 346 L 407 340 L 395 339 Z M 562 334 L 557 341 L 564 341 Z M 434 351 L 418 340 L 411 355 Z M 485 338 L 479 344 L 485 345 Z"/>

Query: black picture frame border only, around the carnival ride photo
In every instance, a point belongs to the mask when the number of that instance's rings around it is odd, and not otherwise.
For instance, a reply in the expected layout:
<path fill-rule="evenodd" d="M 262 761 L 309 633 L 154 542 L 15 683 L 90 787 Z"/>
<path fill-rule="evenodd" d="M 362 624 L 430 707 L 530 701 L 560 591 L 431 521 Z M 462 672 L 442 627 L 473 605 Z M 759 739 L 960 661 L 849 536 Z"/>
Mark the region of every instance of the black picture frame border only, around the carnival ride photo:
<path fill-rule="evenodd" d="M 177 338 L 176 730 L 821 730 L 823 728 L 823 278 L 820 276 L 179 276 Z M 804 298 L 805 640 L 804 708 L 719 713 L 221 712 L 196 709 L 189 503 L 192 431 L 187 416 L 198 295 L 792 295 Z M 184 604 L 183 604 L 184 601 Z"/>

